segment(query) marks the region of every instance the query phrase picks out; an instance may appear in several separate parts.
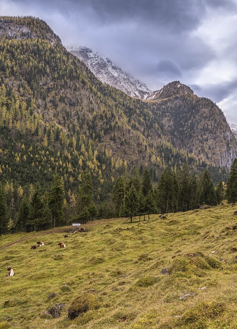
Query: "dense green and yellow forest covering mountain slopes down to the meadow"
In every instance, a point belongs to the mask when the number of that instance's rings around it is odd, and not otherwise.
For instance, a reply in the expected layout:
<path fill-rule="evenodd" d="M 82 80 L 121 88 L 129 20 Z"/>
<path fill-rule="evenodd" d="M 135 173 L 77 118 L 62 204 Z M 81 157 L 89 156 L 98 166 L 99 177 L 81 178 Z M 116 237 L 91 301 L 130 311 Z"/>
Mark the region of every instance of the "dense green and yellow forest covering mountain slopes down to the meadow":
<path fill-rule="evenodd" d="M 0 17 L 0 25 L 2 232 L 193 209 L 206 202 L 200 199 L 205 170 L 212 184 L 227 181 L 216 145 L 228 155 L 236 141 L 232 135 L 220 141 L 227 123 L 214 103 L 195 95 L 133 99 L 98 81 L 42 20 Z M 180 199 L 183 170 L 193 180 L 188 201 Z M 132 184 L 136 176 L 143 186 L 145 173 L 149 193 Z M 219 202 L 213 190 L 211 204 Z"/>

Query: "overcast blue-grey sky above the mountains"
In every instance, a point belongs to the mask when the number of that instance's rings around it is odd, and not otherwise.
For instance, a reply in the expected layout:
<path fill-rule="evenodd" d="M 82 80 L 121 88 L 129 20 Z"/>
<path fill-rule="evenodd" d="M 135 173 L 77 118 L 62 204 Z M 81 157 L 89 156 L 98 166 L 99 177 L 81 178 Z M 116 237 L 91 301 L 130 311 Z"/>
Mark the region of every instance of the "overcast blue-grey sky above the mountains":
<path fill-rule="evenodd" d="M 0 0 L 1 15 L 45 20 L 151 90 L 180 80 L 237 125 L 237 0 Z"/>

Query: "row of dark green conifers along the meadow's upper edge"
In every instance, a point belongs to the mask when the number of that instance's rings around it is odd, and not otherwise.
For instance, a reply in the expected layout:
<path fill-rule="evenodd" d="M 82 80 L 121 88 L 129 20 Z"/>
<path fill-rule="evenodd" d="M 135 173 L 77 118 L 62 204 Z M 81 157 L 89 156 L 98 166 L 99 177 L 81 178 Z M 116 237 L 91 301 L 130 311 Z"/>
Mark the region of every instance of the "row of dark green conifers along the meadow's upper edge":
<path fill-rule="evenodd" d="M 134 169 L 131 175 L 116 179 L 113 193 L 107 200 L 95 197 L 90 172 L 83 174 L 77 193 L 65 193 L 64 180 L 58 174 L 47 191 L 39 184 L 27 191 L 0 182 L 0 234 L 16 231 L 37 231 L 52 227 L 85 223 L 111 217 L 144 216 L 188 211 L 201 205 L 216 206 L 224 198 L 237 201 L 237 159 L 233 161 L 227 184 L 214 186 L 208 170 L 199 177 L 191 174 L 187 163 L 176 172 L 165 169 L 157 184 L 152 184 L 148 169 Z"/>

